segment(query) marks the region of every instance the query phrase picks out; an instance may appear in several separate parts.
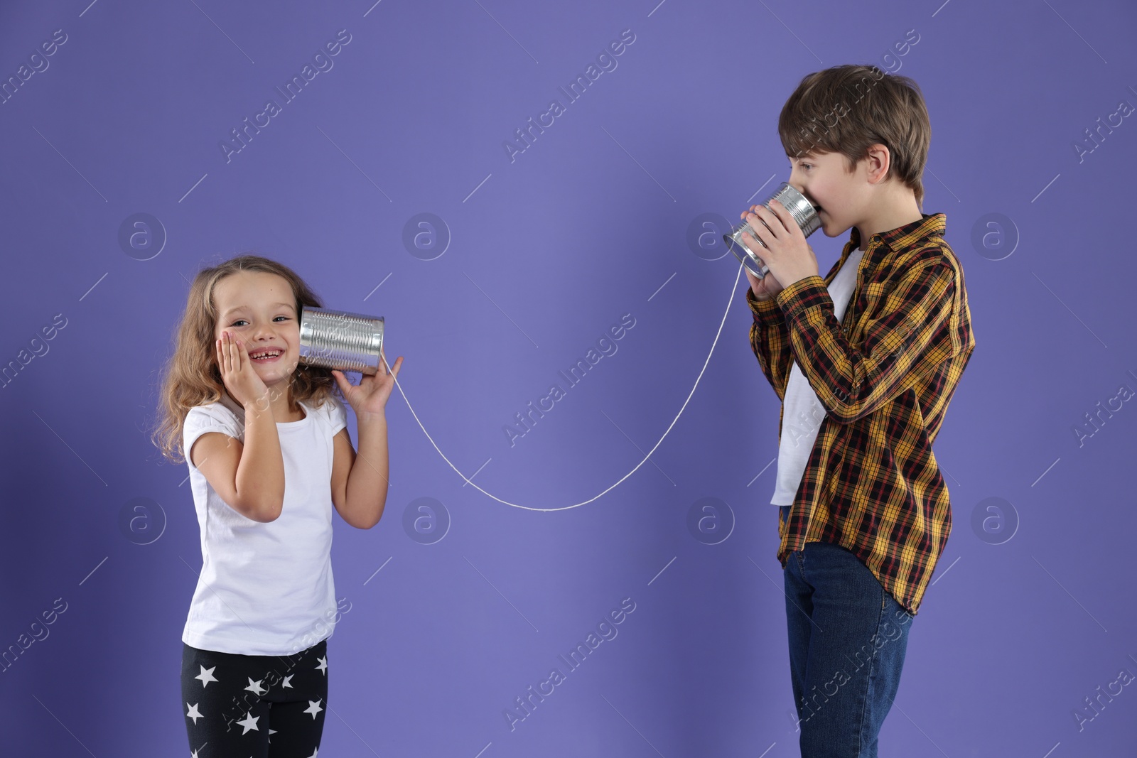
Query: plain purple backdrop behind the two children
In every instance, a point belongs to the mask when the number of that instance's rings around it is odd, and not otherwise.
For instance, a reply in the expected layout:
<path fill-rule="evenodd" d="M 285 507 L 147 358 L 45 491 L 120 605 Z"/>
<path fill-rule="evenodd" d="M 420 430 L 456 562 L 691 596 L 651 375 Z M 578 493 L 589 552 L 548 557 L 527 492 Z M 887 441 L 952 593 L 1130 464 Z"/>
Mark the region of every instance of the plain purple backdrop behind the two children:
<path fill-rule="evenodd" d="M 1137 266 L 1112 223 L 1137 165 L 1131 5 L 85 1 L 0 6 L 6 753 L 189 752 L 198 525 L 148 430 L 200 266 L 254 250 L 385 316 L 454 465 L 571 506 L 642 460 L 707 359 L 738 266 L 700 247 L 704 215 L 788 177 L 777 117 L 802 76 L 874 63 L 927 99 L 923 209 L 947 215 L 978 344 L 881 755 L 1134 755 Z M 811 238 L 822 273 L 846 240 Z M 335 524 L 321 755 L 797 755 L 779 403 L 733 290 L 670 435 L 576 508 L 465 484 L 396 393 L 387 515 Z"/>

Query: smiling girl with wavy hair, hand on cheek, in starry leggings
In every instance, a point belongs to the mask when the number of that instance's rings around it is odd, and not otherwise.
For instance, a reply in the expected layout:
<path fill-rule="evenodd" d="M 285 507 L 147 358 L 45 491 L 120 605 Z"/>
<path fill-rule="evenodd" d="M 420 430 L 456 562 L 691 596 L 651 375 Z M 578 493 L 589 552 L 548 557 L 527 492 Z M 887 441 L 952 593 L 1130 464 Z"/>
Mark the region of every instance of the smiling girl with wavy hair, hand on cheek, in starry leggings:
<path fill-rule="evenodd" d="M 332 507 L 371 528 L 387 501 L 384 409 L 402 358 L 390 370 L 382 360 L 358 385 L 301 366 L 304 306 L 322 307 L 267 258 L 206 268 L 166 366 L 153 439 L 189 464 L 201 528 L 201 574 L 182 632 L 194 758 L 316 755 L 326 639 L 339 618 Z M 358 459 L 340 398 L 356 414 Z"/>

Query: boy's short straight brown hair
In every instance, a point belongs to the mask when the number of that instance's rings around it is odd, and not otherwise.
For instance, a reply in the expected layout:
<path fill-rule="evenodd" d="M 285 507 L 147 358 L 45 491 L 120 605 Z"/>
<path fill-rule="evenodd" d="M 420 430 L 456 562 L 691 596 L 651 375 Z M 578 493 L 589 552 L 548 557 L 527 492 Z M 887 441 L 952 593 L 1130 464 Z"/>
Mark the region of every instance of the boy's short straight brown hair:
<path fill-rule="evenodd" d="M 846 173 L 868 157 L 869 145 L 888 148 L 888 176 L 915 193 L 923 208 L 923 168 L 931 122 L 920 85 L 877 66 L 848 64 L 807 74 L 778 117 L 786 155 L 840 152 Z"/>

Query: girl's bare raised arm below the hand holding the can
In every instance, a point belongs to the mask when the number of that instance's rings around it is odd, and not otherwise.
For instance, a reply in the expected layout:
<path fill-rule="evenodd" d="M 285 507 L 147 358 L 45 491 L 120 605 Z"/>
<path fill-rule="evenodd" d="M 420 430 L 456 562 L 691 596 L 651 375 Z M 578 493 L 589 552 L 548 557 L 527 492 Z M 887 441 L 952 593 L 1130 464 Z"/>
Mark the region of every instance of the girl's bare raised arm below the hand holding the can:
<path fill-rule="evenodd" d="M 387 505 L 390 461 L 387 453 L 387 415 L 357 413 L 359 452 L 351 447 L 347 427 L 334 438 L 332 502 L 351 526 L 370 530 Z"/>

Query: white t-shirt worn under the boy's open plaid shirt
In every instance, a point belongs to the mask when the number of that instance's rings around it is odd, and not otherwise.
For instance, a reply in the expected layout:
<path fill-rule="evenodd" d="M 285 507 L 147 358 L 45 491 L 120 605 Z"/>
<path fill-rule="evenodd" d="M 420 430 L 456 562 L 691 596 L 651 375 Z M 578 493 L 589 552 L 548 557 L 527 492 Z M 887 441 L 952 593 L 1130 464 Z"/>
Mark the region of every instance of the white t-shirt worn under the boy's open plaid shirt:
<path fill-rule="evenodd" d="M 833 315 L 838 322 L 845 316 L 845 308 L 856 286 L 856 268 L 863 253 L 860 249 L 850 252 L 829 283 L 829 298 L 833 301 Z M 778 481 L 773 499 L 770 500 L 772 505 L 794 503 L 794 495 L 802 484 L 805 465 L 810 461 L 810 453 L 824 417 L 824 406 L 818 400 L 818 393 L 810 386 L 810 380 L 795 360 L 786 383 L 786 395 L 782 398 L 782 434 L 778 445 Z"/>

